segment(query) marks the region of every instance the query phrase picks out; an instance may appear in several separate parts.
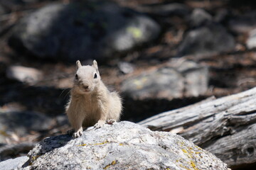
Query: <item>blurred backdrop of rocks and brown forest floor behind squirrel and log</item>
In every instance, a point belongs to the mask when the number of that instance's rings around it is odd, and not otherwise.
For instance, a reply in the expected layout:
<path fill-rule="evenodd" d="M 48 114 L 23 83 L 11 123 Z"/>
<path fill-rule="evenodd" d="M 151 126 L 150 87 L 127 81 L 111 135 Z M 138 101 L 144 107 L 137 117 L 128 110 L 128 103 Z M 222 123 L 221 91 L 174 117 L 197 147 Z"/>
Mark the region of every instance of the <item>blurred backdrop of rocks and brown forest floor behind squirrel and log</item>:
<path fill-rule="evenodd" d="M 122 120 L 256 85 L 256 3 L 0 0 L 0 160 L 70 129 L 75 61 L 97 60 Z"/>

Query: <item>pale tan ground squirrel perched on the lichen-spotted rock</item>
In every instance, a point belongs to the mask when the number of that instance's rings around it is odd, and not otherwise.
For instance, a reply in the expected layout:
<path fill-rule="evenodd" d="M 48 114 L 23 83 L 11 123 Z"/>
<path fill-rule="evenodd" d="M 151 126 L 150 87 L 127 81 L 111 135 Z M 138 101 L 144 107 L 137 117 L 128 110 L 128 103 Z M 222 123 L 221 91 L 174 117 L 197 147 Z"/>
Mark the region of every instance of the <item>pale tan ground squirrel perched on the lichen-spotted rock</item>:
<path fill-rule="evenodd" d="M 101 128 L 105 123 L 119 120 L 122 101 L 116 91 L 110 92 L 100 79 L 97 62 L 82 66 L 76 62 L 77 72 L 66 106 L 68 120 L 74 128 L 73 137 L 82 135 L 82 127 L 94 125 Z"/>

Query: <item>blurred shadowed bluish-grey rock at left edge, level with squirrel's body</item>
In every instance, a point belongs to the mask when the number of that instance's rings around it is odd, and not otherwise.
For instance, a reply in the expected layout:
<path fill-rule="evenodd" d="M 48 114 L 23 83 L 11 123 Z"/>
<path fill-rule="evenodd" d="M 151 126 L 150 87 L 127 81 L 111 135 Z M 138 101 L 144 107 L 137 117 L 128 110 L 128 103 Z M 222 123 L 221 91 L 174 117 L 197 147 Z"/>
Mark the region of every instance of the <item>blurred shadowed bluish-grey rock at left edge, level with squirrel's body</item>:
<path fill-rule="evenodd" d="M 0 136 L 15 133 L 18 136 L 28 135 L 29 131 L 48 130 L 52 121 L 46 115 L 34 112 L 0 112 Z M 4 135 L 6 134 L 6 135 Z"/>

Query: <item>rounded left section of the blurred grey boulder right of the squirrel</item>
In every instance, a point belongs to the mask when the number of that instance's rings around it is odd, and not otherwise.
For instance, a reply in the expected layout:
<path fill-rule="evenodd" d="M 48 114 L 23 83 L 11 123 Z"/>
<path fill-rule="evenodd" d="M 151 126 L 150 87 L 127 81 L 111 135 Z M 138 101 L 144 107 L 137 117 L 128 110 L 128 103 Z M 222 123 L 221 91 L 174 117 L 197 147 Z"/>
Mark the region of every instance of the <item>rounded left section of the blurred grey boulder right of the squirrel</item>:
<path fill-rule="evenodd" d="M 124 80 L 122 93 L 132 98 L 178 98 L 184 89 L 183 77 L 170 67 L 144 72 Z"/>

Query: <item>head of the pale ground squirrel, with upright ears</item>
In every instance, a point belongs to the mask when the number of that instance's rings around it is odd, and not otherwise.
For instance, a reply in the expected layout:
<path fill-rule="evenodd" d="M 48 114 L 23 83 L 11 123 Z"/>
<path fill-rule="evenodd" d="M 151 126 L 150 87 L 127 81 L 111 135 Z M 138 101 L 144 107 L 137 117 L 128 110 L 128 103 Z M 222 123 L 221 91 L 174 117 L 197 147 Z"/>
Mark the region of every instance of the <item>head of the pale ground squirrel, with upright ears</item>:
<path fill-rule="evenodd" d="M 76 65 L 77 72 L 75 74 L 74 87 L 77 88 L 77 92 L 80 94 L 89 94 L 100 84 L 100 72 L 97 62 L 94 60 L 92 66 L 82 66 L 78 60 Z"/>

